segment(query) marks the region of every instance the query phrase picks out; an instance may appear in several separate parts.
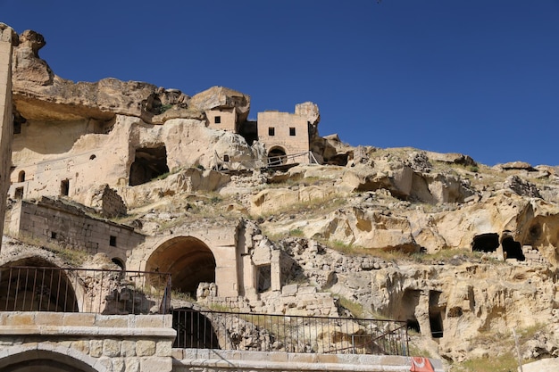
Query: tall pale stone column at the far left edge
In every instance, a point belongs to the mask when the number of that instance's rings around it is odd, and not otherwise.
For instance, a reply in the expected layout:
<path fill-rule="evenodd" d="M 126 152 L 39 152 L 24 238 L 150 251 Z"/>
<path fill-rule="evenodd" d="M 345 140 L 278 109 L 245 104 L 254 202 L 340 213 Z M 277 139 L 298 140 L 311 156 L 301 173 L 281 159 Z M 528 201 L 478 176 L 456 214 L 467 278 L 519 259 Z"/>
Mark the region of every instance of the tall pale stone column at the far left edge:
<path fill-rule="evenodd" d="M 12 52 L 15 42 L 15 31 L 0 23 L 0 236 L 4 233 L 5 201 L 10 188 L 12 167 Z"/>

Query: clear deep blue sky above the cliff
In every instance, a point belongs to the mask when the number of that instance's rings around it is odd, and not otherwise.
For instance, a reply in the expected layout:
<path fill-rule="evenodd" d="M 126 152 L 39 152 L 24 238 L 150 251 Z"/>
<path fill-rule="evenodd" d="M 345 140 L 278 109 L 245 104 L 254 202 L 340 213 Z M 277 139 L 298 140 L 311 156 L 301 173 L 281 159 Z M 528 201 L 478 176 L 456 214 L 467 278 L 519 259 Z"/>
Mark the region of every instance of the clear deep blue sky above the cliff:
<path fill-rule="evenodd" d="M 0 0 L 74 81 L 195 95 L 257 112 L 313 101 L 351 145 L 559 165 L 559 0 Z"/>

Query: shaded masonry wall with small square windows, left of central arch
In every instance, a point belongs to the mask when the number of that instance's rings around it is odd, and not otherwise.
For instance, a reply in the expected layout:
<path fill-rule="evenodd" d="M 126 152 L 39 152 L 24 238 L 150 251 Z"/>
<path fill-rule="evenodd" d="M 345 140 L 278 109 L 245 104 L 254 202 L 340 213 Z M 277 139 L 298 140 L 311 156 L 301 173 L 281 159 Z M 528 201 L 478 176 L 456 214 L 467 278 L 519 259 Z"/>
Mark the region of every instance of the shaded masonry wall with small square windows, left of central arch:
<path fill-rule="evenodd" d="M 69 244 L 92 254 L 103 252 L 123 263 L 127 251 L 146 239 L 132 227 L 91 218 L 76 208 L 46 198 L 39 203 L 15 204 L 7 222 L 13 236 Z"/>

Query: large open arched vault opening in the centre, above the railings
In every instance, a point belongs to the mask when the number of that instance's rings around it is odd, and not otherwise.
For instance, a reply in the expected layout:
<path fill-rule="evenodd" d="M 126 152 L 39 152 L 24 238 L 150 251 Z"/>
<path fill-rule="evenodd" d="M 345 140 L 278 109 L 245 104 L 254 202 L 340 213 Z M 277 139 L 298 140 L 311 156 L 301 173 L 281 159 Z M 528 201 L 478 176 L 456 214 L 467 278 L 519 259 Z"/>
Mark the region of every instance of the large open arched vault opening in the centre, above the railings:
<path fill-rule="evenodd" d="M 146 271 L 171 273 L 172 289 L 196 296 L 202 282 L 215 282 L 215 258 L 204 242 L 194 236 L 179 236 L 155 249 Z"/>

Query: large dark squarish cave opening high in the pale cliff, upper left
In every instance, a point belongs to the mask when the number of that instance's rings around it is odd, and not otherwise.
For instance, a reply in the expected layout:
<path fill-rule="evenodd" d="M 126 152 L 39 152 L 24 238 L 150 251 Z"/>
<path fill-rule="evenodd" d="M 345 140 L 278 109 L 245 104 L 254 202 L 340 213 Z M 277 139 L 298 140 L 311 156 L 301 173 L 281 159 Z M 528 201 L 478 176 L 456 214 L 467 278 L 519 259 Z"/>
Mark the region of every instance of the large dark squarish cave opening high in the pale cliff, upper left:
<path fill-rule="evenodd" d="M 165 145 L 138 148 L 130 166 L 129 186 L 145 184 L 165 173 L 169 173 Z"/>

